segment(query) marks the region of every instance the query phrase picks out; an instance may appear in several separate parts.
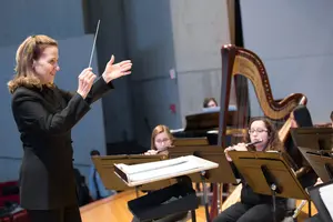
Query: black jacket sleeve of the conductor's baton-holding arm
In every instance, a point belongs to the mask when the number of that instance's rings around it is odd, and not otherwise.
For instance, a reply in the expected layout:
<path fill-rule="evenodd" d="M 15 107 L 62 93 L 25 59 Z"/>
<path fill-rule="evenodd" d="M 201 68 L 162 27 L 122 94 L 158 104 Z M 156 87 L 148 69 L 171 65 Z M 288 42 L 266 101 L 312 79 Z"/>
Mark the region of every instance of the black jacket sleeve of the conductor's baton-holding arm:
<path fill-rule="evenodd" d="M 48 112 L 43 107 L 43 98 L 32 91 L 18 89 L 12 98 L 12 112 L 20 132 L 64 133 L 89 110 L 89 104 L 78 93 L 57 113 Z"/>

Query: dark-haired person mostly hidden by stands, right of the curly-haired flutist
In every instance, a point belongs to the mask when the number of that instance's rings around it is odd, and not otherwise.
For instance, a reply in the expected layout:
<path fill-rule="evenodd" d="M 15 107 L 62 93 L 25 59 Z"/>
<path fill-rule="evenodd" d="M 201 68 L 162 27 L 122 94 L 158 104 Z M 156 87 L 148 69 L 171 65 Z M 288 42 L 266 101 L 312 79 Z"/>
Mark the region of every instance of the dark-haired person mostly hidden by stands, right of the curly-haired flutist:
<path fill-rule="evenodd" d="M 291 128 L 313 127 L 310 112 L 305 105 L 299 105 L 290 114 Z M 292 137 L 285 141 L 285 150 L 295 163 L 294 171 L 303 188 L 312 186 L 316 182 L 317 175 L 310 163 L 302 155 L 301 151 L 294 144 Z"/>

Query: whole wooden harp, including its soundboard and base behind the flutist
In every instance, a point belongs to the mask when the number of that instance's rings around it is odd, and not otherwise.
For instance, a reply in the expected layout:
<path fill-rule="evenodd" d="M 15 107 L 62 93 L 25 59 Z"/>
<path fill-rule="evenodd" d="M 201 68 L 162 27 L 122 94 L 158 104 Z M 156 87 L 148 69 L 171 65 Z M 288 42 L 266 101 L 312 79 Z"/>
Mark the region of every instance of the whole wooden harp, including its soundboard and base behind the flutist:
<path fill-rule="evenodd" d="M 221 100 L 220 100 L 220 119 L 219 119 L 219 137 L 218 145 L 226 147 L 226 120 L 228 107 L 230 101 L 232 80 L 236 89 L 236 107 L 238 107 L 238 122 L 243 128 L 248 124 L 249 105 L 244 101 L 244 95 L 238 93 L 241 88 L 246 87 L 246 80 L 253 84 L 259 104 L 265 117 L 272 120 L 285 120 L 286 117 L 299 105 L 306 104 L 306 97 L 302 93 L 293 93 L 282 100 L 274 100 L 269 77 L 261 59 L 252 51 L 235 47 L 233 44 L 225 44 L 221 49 L 222 56 L 222 84 L 221 84 Z M 248 115 L 248 117 L 246 117 Z M 284 140 L 290 129 L 290 121 L 287 120 L 282 127 L 279 137 Z M 240 185 L 239 185 L 240 186 Z M 231 193 L 226 199 L 226 204 L 233 204 L 239 200 L 240 188 L 235 190 L 236 193 Z M 226 209 L 228 205 L 222 205 Z M 213 205 L 211 218 L 214 218 L 220 210 L 218 203 L 218 188 L 213 189 Z"/>

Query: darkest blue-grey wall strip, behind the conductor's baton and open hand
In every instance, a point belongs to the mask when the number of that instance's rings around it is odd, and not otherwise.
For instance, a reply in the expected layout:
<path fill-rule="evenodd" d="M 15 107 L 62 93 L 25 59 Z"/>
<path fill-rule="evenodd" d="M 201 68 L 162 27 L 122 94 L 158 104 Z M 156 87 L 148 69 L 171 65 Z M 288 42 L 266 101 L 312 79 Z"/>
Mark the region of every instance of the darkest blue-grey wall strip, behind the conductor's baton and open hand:
<path fill-rule="evenodd" d="M 100 74 L 102 74 L 111 54 L 114 54 L 115 62 L 130 58 L 124 4 L 124 0 L 83 1 L 87 31 L 95 33 L 98 20 L 101 20 L 97 39 Z M 113 81 L 117 90 L 102 99 L 107 143 L 134 139 L 130 80 L 131 78 L 127 77 Z"/>

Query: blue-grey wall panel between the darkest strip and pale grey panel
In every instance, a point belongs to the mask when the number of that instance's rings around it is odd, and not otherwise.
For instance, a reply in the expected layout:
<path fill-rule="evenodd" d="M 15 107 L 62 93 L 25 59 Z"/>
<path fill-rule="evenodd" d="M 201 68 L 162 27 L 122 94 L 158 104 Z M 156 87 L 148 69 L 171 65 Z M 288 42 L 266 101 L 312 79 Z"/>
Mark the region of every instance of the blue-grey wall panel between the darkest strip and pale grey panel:
<path fill-rule="evenodd" d="M 151 128 L 180 127 L 178 85 L 169 74 L 175 65 L 170 10 L 169 1 L 125 1 L 128 49 L 134 64 L 134 133 L 138 142 L 148 148 Z M 178 113 L 170 111 L 170 104 L 178 107 Z"/>

